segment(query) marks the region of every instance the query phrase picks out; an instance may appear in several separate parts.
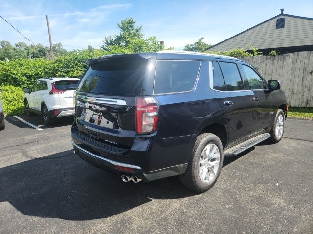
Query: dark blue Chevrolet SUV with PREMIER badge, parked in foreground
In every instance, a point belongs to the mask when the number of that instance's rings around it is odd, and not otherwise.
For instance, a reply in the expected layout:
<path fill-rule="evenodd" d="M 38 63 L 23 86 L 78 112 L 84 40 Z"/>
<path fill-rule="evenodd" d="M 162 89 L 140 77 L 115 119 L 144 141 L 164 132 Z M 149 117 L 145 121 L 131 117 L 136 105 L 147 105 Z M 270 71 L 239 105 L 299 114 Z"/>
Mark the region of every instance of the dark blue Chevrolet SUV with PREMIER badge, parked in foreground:
<path fill-rule="evenodd" d="M 163 51 L 87 63 L 75 94 L 74 152 L 124 182 L 179 175 L 203 192 L 224 157 L 283 136 L 279 82 L 236 58 Z"/>

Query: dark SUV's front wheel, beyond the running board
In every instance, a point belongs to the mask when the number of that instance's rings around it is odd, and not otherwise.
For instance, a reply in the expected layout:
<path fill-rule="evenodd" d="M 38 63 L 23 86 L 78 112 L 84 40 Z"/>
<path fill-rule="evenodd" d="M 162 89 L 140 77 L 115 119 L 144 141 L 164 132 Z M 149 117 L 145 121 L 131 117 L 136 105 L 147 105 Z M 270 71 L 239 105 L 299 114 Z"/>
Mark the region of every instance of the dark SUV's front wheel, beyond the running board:
<path fill-rule="evenodd" d="M 274 124 L 271 130 L 269 131 L 270 137 L 268 138 L 268 142 L 273 144 L 279 142 L 284 135 L 284 130 L 285 130 L 285 113 L 283 110 L 278 109 Z"/>

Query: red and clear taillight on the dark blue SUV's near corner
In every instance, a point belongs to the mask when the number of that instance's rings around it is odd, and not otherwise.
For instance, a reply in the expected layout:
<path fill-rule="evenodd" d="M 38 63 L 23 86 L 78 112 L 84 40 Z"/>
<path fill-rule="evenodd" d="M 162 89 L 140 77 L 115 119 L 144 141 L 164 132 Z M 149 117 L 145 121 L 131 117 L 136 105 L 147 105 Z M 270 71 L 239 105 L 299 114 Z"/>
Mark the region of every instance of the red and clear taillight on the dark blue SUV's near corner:
<path fill-rule="evenodd" d="M 158 105 L 152 97 L 136 100 L 137 133 L 156 131 L 158 120 Z"/>

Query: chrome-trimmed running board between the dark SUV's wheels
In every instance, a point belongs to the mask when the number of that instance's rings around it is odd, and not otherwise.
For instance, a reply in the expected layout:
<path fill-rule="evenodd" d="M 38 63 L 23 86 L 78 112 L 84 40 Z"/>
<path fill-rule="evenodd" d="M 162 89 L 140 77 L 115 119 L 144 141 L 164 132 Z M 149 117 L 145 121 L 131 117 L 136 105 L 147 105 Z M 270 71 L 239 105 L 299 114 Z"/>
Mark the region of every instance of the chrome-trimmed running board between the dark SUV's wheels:
<path fill-rule="evenodd" d="M 259 144 L 260 142 L 268 139 L 270 137 L 269 133 L 263 133 L 260 134 L 256 137 L 253 137 L 251 139 L 248 139 L 238 145 L 235 145 L 227 150 L 224 151 L 224 156 L 225 157 L 231 157 L 231 156 L 236 156 L 240 154 L 241 152 L 244 152 L 246 149 L 249 149 L 250 147 Z"/>

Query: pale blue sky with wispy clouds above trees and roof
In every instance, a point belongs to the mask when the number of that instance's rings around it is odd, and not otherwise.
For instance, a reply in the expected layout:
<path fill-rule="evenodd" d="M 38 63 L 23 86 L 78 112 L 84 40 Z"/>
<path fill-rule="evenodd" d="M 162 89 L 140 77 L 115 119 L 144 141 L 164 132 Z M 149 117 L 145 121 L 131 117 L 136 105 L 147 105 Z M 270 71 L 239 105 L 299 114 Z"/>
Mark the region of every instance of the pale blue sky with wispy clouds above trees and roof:
<path fill-rule="evenodd" d="M 280 14 L 313 18 L 313 0 L 0 0 L 0 15 L 35 44 L 67 50 L 99 48 L 119 33 L 117 23 L 132 17 L 145 38 L 156 36 L 165 47 L 182 50 L 201 37 L 216 44 Z M 30 44 L 0 18 L 0 41 Z"/>

